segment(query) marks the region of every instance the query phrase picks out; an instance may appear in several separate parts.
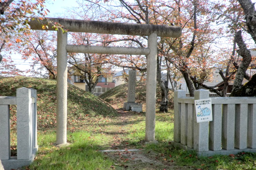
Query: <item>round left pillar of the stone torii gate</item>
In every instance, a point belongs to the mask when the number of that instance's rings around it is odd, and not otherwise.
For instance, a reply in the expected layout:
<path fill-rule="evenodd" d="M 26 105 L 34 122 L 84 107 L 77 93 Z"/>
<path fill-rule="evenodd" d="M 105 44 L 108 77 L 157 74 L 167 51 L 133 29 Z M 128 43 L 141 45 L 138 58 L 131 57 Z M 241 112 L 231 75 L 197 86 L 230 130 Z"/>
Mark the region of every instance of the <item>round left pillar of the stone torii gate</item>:
<path fill-rule="evenodd" d="M 67 32 L 57 31 L 56 144 L 67 144 Z"/>

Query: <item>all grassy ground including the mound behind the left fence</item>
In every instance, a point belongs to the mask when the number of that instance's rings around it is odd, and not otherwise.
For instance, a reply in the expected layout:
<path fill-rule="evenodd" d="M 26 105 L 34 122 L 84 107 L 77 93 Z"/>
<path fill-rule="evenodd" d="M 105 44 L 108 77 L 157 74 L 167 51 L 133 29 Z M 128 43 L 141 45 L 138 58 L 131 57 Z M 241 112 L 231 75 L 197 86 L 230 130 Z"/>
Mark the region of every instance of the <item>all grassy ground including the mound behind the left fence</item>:
<path fill-rule="evenodd" d="M 56 82 L 28 77 L 0 78 L 0 95 L 15 96 L 16 88 L 38 90 L 38 154 L 26 170 L 253 170 L 255 153 L 197 157 L 175 148 L 173 110 L 156 113 L 156 140 L 145 144 L 145 112 L 123 111 L 125 91 L 114 88 L 102 99 L 71 85 L 68 89 L 67 147 L 55 146 Z M 141 88 L 143 86 L 141 85 Z M 137 91 L 143 94 L 143 91 Z M 122 95 L 121 95 L 122 94 Z M 103 97 L 102 97 L 103 98 Z M 50 102 L 49 102 L 50 101 Z M 15 106 L 11 106 L 12 154 L 15 155 Z M 117 150 L 101 152 L 100 150 Z M 138 149 L 138 151 L 130 151 Z"/>

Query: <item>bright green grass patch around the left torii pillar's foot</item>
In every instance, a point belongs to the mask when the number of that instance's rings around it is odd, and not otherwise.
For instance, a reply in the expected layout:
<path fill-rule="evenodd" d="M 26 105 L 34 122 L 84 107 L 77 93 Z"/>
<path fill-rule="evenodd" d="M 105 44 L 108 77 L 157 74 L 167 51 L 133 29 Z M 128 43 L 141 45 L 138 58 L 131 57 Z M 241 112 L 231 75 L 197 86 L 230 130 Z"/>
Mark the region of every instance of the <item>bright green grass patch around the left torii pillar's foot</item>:
<path fill-rule="evenodd" d="M 38 155 L 30 170 L 108 170 L 113 161 L 98 152 L 99 141 L 87 132 L 70 133 L 67 147 L 55 147 L 52 134 L 41 136 Z"/>

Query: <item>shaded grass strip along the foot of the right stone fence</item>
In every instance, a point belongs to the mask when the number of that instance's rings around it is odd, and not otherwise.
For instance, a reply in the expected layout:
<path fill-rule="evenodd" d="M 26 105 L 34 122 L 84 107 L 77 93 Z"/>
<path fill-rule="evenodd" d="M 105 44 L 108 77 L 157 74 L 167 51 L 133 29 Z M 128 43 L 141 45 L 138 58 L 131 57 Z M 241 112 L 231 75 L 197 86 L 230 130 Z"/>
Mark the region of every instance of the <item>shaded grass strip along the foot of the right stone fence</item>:
<path fill-rule="evenodd" d="M 171 142 L 148 144 L 146 152 L 156 156 L 160 160 L 174 162 L 180 169 L 189 170 L 252 170 L 256 165 L 256 153 L 238 153 L 215 155 L 209 157 L 197 156 L 194 150 L 183 150 L 175 147 Z M 184 168 L 183 168 L 184 169 Z"/>

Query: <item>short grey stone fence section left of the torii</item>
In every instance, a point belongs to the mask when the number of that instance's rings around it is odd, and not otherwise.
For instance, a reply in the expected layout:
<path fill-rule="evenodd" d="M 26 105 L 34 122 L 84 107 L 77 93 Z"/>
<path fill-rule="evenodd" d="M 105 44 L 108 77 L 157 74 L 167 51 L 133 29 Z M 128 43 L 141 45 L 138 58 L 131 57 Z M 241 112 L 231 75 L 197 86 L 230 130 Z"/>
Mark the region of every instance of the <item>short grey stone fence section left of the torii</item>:
<path fill-rule="evenodd" d="M 38 150 L 37 93 L 18 88 L 16 96 L 0 96 L 0 161 L 5 170 L 30 164 Z M 17 105 L 17 156 L 10 152 L 10 105 Z"/>

